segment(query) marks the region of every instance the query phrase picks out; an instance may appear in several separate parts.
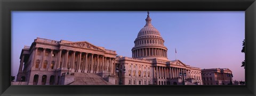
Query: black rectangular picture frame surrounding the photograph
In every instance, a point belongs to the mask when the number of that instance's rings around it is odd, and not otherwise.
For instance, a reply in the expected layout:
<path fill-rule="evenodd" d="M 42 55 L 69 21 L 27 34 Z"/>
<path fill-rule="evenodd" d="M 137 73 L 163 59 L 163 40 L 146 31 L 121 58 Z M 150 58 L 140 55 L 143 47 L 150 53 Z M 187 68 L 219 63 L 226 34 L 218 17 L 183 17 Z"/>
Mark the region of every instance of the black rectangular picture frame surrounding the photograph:
<path fill-rule="evenodd" d="M 254 0 L 1 0 L 0 8 L 0 95 L 256 94 Z M 11 85 L 11 11 L 245 11 L 246 85 Z"/>

